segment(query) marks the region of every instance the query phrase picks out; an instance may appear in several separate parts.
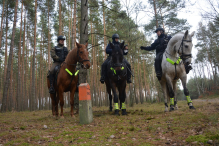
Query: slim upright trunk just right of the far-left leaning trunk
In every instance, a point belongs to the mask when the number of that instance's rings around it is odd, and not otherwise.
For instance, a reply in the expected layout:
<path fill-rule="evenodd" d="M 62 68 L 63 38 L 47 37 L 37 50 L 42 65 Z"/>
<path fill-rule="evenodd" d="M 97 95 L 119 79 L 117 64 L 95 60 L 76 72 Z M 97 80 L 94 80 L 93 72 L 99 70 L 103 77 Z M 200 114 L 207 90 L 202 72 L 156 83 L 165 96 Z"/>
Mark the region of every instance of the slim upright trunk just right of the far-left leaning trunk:
<path fill-rule="evenodd" d="M 23 0 L 21 6 L 21 23 L 20 23 L 20 40 L 18 46 L 18 78 L 17 78 L 17 96 L 16 96 L 16 104 L 17 104 L 17 111 L 21 111 L 22 105 L 22 90 L 21 90 L 21 34 L 22 34 L 22 16 L 23 16 Z M 24 41 L 24 40 L 23 40 Z"/>

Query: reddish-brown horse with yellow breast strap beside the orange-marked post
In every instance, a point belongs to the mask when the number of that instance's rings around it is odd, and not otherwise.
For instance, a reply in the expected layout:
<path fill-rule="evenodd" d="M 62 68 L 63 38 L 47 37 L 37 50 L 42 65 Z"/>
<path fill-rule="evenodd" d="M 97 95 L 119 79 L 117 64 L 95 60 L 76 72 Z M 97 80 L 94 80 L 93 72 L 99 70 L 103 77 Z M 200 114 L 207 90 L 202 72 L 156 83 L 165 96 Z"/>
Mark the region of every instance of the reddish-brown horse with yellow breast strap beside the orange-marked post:
<path fill-rule="evenodd" d="M 88 43 L 85 45 L 78 44 L 76 42 L 77 47 L 75 47 L 73 50 L 71 50 L 65 61 L 61 64 L 59 74 L 57 76 L 57 82 L 54 84 L 54 88 L 56 90 L 56 94 L 50 94 L 50 97 L 52 99 L 52 114 L 53 116 L 58 116 L 58 103 L 60 100 L 60 106 L 61 106 L 61 114 L 60 116 L 64 118 L 63 116 L 63 105 L 64 105 L 64 99 L 63 99 L 63 93 L 70 91 L 70 104 L 71 104 L 71 116 L 73 117 L 73 106 L 74 106 L 74 94 L 76 91 L 76 86 L 78 82 L 78 75 L 75 75 L 76 72 L 76 64 L 79 62 L 81 66 L 84 69 L 90 68 L 90 61 L 88 58 L 88 50 L 87 46 Z M 66 71 L 68 70 L 68 72 Z M 71 75 L 70 75 L 71 74 Z M 47 86 L 48 89 L 50 88 L 50 82 L 47 78 Z"/>

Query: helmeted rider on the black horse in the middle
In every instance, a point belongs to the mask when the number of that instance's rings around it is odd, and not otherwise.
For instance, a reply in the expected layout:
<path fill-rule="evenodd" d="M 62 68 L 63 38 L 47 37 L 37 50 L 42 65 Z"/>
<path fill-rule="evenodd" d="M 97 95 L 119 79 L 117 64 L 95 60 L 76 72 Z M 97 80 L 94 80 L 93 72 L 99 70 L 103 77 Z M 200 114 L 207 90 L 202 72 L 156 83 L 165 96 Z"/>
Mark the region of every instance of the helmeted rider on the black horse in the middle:
<path fill-rule="evenodd" d="M 118 34 L 113 34 L 112 36 L 112 40 L 113 40 L 113 44 L 114 45 L 120 45 L 119 42 L 119 35 Z M 105 81 L 105 78 L 107 76 L 107 64 L 108 62 L 111 60 L 112 58 L 112 49 L 110 48 L 110 44 L 107 45 L 106 47 L 106 53 L 109 54 L 109 56 L 107 57 L 107 59 L 103 62 L 102 66 L 101 66 L 101 78 L 100 78 L 100 82 L 103 84 Z M 124 51 L 123 51 L 123 55 L 127 55 L 128 54 L 128 45 L 124 46 Z M 131 83 L 131 65 L 129 64 L 129 62 L 124 58 L 124 62 L 127 65 L 127 83 Z"/>

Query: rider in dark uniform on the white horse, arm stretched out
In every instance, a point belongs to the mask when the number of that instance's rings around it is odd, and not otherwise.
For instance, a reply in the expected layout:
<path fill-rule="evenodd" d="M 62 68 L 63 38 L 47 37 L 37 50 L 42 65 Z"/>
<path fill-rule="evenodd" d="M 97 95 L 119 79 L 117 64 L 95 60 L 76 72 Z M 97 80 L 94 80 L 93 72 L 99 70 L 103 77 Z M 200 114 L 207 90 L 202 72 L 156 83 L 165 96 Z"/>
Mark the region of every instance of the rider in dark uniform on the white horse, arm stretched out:
<path fill-rule="evenodd" d="M 143 47 L 141 46 L 141 50 L 155 50 L 156 49 L 156 58 L 155 58 L 155 72 L 158 80 L 161 80 L 162 76 L 162 68 L 161 62 L 162 57 L 165 49 L 167 48 L 167 44 L 169 40 L 172 38 L 170 35 L 166 35 L 165 31 L 162 27 L 158 27 L 155 31 L 157 33 L 158 38 L 151 44 L 151 46 Z M 192 69 L 191 66 L 185 66 L 186 73 L 188 74 L 189 71 Z"/>

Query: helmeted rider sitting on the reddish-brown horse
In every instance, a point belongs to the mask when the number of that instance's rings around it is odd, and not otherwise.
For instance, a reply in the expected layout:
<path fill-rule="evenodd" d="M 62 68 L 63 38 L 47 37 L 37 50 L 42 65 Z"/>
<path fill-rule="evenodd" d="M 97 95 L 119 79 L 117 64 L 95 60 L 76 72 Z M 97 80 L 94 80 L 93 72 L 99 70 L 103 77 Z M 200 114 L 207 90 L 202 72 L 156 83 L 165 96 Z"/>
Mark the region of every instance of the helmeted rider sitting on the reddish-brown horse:
<path fill-rule="evenodd" d="M 51 57 L 53 59 L 53 64 L 50 69 L 49 80 L 50 80 L 50 88 L 49 93 L 54 94 L 55 89 L 53 86 L 55 73 L 58 70 L 59 66 L 62 62 L 65 61 L 66 56 L 68 55 L 68 49 L 64 46 L 65 37 L 60 35 L 57 37 L 57 46 L 53 47 L 50 51 Z"/>

